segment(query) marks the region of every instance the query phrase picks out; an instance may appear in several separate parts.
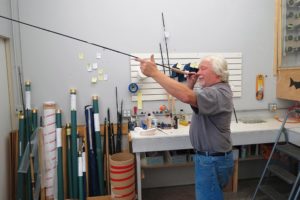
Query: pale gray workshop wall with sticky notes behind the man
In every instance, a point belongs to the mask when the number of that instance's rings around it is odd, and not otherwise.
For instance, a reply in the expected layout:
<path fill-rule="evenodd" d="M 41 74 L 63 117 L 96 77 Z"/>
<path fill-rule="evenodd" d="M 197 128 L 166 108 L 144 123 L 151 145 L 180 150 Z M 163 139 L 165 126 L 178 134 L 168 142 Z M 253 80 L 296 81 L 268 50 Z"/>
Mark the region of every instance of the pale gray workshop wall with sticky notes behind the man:
<path fill-rule="evenodd" d="M 288 105 L 275 94 L 273 0 L 27 0 L 19 1 L 18 8 L 21 21 L 126 53 L 159 53 L 159 43 L 164 47 L 163 12 L 169 52 L 242 53 L 242 96 L 234 99 L 236 110 L 267 109 L 270 102 L 279 108 Z M 83 108 L 92 95 L 99 95 L 101 121 L 109 107 L 115 122 L 115 87 L 125 109 L 136 105 L 128 92 L 129 57 L 24 25 L 19 36 L 33 107 L 41 110 L 43 102 L 53 100 L 65 113 L 63 121 L 70 121 L 69 89 L 76 88 L 79 124 L 84 123 Z M 94 63 L 97 69 L 89 72 L 96 68 Z M 262 101 L 255 98 L 257 74 L 265 75 Z M 143 107 L 152 111 L 161 104 L 166 102 L 144 102 Z M 181 103 L 176 108 L 191 112 Z"/>

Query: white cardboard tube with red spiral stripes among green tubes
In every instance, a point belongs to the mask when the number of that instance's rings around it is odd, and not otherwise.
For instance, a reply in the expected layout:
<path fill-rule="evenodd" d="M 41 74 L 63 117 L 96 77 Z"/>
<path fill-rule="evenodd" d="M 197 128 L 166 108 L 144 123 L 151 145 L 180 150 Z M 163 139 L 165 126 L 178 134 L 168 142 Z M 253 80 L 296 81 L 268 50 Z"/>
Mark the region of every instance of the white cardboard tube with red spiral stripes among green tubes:
<path fill-rule="evenodd" d="M 55 103 L 45 102 L 43 108 L 46 198 L 54 198 L 54 180 L 56 171 Z"/>

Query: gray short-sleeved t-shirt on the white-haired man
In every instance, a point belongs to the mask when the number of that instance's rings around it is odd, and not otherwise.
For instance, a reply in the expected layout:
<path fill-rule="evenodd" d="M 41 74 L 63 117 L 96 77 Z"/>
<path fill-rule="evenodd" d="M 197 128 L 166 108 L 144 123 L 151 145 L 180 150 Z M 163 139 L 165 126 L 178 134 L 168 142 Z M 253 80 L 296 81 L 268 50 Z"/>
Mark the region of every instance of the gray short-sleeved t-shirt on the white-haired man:
<path fill-rule="evenodd" d="M 232 148 L 230 122 L 233 110 L 232 91 L 228 83 L 202 88 L 197 95 L 190 140 L 195 150 L 227 152 Z"/>

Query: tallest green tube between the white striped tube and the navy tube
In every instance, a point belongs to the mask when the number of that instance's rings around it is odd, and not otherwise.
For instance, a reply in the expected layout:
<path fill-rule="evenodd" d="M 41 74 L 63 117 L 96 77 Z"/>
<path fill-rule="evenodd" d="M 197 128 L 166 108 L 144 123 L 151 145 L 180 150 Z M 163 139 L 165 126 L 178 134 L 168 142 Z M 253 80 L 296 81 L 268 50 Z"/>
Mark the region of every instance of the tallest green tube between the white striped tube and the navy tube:
<path fill-rule="evenodd" d="M 76 114 L 76 89 L 70 89 L 71 96 L 71 151 L 72 151 L 72 173 L 73 173 L 73 196 L 78 198 L 78 159 L 77 159 L 77 114 Z"/>

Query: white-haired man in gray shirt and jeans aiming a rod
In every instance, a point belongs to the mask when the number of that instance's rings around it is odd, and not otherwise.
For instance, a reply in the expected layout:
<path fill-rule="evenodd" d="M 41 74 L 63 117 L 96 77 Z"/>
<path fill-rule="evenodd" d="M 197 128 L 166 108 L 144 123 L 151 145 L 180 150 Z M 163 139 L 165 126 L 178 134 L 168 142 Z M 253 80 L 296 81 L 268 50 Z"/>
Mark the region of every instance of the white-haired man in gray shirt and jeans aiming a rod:
<path fill-rule="evenodd" d="M 233 103 L 226 60 L 220 56 L 202 58 L 198 72 L 187 76 L 186 85 L 159 71 L 153 55 L 150 60 L 137 61 L 146 76 L 152 77 L 178 100 L 191 105 L 193 116 L 189 134 L 196 152 L 196 199 L 223 199 L 222 189 L 233 172 L 230 138 Z M 202 88 L 194 91 L 197 80 Z"/>

